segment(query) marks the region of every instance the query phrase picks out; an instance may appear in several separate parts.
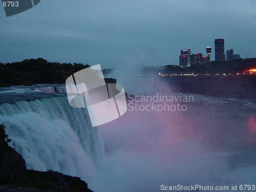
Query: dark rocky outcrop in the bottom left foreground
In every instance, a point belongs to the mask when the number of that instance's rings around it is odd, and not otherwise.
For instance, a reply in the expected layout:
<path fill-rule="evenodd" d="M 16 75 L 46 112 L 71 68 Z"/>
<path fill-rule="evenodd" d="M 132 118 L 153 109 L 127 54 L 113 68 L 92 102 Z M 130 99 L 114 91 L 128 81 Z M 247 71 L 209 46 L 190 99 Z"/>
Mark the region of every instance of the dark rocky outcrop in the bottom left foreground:
<path fill-rule="evenodd" d="M 93 192 L 78 177 L 27 169 L 23 157 L 8 142 L 5 126 L 0 124 L 0 191 Z"/>

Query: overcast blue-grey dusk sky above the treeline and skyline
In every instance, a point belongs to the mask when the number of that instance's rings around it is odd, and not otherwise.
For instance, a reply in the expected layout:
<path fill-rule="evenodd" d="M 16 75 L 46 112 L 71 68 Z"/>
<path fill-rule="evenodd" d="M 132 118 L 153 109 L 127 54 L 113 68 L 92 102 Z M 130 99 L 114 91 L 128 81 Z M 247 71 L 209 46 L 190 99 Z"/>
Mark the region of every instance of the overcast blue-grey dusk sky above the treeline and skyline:
<path fill-rule="evenodd" d="M 0 61 L 179 65 L 181 49 L 206 56 L 211 46 L 214 60 L 216 38 L 225 51 L 256 57 L 255 10 L 255 0 L 41 0 L 6 17 L 0 6 Z"/>

